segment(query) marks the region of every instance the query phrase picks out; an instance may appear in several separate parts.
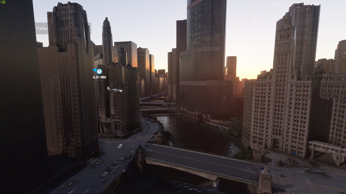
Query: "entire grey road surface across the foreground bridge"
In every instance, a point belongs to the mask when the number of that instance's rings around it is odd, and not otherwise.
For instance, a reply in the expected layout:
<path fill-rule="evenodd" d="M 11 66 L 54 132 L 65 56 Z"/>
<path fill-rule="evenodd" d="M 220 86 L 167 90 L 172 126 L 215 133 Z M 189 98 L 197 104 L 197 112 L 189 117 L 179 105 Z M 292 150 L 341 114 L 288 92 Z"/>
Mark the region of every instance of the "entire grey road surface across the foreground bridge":
<path fill-rule="evenodd" d="M 252 182 L 258 182 L 260 175 L 260 169 L 247 161 L 157 144 L 152 144 L 147 149 L 153 150 L 153 152 L 146 152 L 146 158 L 196 168 L 202 171 L 209 171 Z"/>

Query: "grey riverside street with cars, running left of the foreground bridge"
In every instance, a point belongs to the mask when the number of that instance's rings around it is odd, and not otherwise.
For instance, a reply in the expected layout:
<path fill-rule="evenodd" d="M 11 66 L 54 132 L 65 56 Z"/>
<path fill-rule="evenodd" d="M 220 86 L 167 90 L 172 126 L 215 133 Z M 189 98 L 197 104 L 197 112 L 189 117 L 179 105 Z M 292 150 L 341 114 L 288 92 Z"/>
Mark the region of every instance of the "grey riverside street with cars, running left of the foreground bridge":
<path fill-rule="evenodd" d="M 109 139 L 109 138 L 100 138 L 100 152 L 104 154 L 99 158 L 102 160 L 101 163 L 96 164 L 91 167 L 89 165 L 65 181 L 61 186 L 62 189 L 59 191 L 55 188 L 50 194 L 67 194 L 67 193 L 102 193 L 102 191 L 122 172 L 123 169 L 126 169 L 128 166 L 127 162 L 122 162 L 115 171 L 106 175 L 106 178 L 101 177 L 109 168 L 109 165 L 112 165 L 114 162 L 119 161 L 121 157 L 124 157 L 126 154 L 133 154 L 139 145 L 146 144 L 155 132 L 158 130 L 157 123 L 151 123 L 149 120 L 141 119 L 143 125 L 143 131 L 137 134 L 130 136 L 127 139 Z M 150 128 L 148 127 L 150 126 Z M 123 144 L 123 147 L 117 148 L 119 144 Z M 68 183 L 72 183 L 67 186 Z M 67 187 L 67 188 L 64 188 Z"/>

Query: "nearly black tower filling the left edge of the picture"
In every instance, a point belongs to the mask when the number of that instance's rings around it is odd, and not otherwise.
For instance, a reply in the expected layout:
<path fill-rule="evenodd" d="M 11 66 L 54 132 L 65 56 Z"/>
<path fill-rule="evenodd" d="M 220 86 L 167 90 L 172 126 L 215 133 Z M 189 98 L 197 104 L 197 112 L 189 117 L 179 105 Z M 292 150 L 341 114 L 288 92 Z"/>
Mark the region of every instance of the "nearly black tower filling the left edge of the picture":
<path fill-rule="evenodd" d="M 2 4 L 0 13 L 0 190 L 27 193 L 48 178 L 33 2 Z"/>

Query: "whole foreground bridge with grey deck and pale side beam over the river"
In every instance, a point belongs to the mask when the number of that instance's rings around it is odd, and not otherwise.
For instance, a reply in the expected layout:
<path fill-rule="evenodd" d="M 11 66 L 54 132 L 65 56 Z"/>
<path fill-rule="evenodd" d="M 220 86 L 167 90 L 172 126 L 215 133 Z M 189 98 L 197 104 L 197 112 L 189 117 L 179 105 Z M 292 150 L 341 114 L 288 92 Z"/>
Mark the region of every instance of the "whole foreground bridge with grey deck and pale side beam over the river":
<path fill-rule="evenodd" d="M 170 167 L 207 178 L 214 182 L 216 190 L 219 178 L 224 178 L 246 183 L 249 193 L 256 193 L 261 175 L 261 170 L 248 161 L 160 144 L 146 147 L 143 157 L 146 164 Z"/>

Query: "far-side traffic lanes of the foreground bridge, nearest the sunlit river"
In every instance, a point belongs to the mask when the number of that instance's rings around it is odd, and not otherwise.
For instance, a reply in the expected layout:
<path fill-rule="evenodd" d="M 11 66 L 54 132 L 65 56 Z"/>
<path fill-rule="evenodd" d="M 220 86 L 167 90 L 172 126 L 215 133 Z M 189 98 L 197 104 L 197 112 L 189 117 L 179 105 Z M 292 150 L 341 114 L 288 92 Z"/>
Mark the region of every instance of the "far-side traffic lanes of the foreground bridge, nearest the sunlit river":
<path fill-rule="evenodd" d="M 250 171 L 253 171 L 256 174 L 260 173 L 260 169 L 255 167 L 252 163 L 249 162 L 243 162 L 243 161 L 238 161 L 235 159 L 231 159 L 231 158 L 222 158 L 222 157 L 218 157 L 218 156 L 210 156 L 210 155 L 206 155 L 206 154 L 201 154 L 201 153 L 195 153 L 195 152 L 189 152 L 189 151 L 184 151 L 184 150 L 180 150 L 180 149 L 174 149 L 172 147 L 164 147 L 164 146 L 157 146 L 155 144 L 149 146 L 148 149 L 151 149 L 155 152 L 166 152 L 166 153 L 170 153 L 173 155 L 177 155 L 177 156 L 183 156 L 183 157 L 190 157 L 190 158 L 194 158 L 194 159 L 199 159 L 199 160 L 204 160 L 206 162 L 215 162 L 218 164 L 223 164 L 223 165 L 227 165 L 227 166 L 236 166 L 237 168 L 241 168 L 241 169 L 246 169 Z"/>

